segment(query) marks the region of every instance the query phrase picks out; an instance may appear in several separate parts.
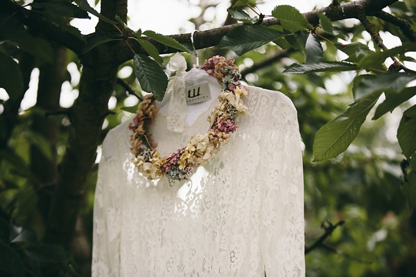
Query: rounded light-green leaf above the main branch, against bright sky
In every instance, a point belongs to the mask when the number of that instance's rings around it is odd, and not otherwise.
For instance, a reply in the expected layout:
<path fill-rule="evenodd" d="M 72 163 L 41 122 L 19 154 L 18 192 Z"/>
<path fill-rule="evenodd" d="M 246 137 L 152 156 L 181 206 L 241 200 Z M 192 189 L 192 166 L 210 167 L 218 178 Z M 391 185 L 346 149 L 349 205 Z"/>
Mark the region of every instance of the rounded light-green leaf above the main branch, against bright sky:
<path fill-rule="evenodd" d="M 304 28 L 312 28 L 308 19 L 292 6 L 276 6 L 272 10 L 272 16 L 279 19 L 281 26 L 291 33 L 296 33 L 298 30 L 303 30 Z"/>

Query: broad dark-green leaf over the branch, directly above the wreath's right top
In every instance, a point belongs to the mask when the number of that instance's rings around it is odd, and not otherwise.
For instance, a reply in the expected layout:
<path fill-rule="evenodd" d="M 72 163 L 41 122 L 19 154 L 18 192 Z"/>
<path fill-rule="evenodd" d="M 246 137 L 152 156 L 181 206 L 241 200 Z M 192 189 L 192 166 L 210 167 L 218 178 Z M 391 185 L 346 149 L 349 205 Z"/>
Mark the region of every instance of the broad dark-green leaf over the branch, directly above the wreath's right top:
<path fill-rule="evenodd" d="M 243 55 L 263 44 L 271 42 L 273 39 L 283 36 L 284 33 L 279 32 L 279 30 L 266 26 L 243 25 L 230 30 L 221 39 L 217 48 L 227 48 L 234 51 L 237 55 Z"/>

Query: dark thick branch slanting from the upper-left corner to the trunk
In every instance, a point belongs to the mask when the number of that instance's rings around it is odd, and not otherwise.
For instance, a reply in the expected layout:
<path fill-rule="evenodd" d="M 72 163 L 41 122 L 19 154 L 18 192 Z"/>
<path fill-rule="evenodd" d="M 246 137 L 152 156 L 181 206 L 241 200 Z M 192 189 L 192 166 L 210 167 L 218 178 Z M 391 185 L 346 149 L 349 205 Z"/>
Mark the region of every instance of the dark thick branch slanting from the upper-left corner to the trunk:
<path fill-rule="evenodd" d="M 0 0 L 0 10 L 21 20 L 26 26 L 33 27 L 47 39 L 58 42 L 77 54 L 80 54 L 85 46 L 82 38 L 73 35 L 69 30 L 62 28 L 39 12 L 22 8 L 10 0 Z"/>

